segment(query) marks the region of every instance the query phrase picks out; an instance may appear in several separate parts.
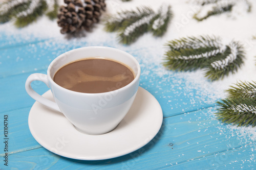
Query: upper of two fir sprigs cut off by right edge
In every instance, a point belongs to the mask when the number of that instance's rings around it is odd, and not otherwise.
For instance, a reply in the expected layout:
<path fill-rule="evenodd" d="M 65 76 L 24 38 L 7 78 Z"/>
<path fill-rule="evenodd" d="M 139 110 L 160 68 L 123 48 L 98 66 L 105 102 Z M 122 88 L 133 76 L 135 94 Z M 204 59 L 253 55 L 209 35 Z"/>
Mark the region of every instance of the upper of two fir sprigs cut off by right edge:
<path fill-rule="evenodd" d="M 230 86 L 228 98 L 256 98 L 256 82 L 237 82 L 236 86 Z"/>

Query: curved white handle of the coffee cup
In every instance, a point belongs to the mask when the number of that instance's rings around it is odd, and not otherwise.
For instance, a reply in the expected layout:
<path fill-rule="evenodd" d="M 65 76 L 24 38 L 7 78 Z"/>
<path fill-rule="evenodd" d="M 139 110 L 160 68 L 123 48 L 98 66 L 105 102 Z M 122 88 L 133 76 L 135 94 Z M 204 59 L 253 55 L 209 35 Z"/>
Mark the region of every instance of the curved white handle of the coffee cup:
<path fill-rule="evenodd" d="M 37 102 L 39 102 L 45 106 L 48 106 L 56 111 L 61 112 L 58 105 L 55 102 L 52 102 L 52 101 L 44 98 L 43 96 L 39 95 L 37 92 L 35 92 L 33 90 L 33 88 L 31 87 L 31 83 L 35 80 L 44 82 L 49 87 L 47 75 L 40 74 L 40 73 L 34 73 L 34 74 L 30 75 L 28 77 L 28 79 L 26 80 L 25 88 L 26 88 L 27 93 L 31 96 L 31 98 L 33 98 L 34 100 L 36 100 Z"/>

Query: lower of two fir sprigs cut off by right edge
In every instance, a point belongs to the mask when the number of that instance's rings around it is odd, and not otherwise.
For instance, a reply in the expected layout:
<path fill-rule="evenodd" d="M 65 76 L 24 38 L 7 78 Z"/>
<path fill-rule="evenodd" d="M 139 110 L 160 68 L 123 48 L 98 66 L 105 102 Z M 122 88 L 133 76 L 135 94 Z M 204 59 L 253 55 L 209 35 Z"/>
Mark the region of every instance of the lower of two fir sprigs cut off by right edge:
<path fill-rule="evenodd" d="M 256 102 L 251 98 L 225 99 L 217 102 L 220 106 L 215 113 L 224 123 L 238 126 L 256 125 Z"/>

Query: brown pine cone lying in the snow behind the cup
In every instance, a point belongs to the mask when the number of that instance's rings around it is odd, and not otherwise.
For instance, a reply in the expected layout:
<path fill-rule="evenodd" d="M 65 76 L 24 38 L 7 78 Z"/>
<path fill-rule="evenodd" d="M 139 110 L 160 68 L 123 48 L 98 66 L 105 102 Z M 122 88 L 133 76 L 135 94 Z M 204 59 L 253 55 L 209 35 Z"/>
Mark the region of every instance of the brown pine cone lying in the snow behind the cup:
<path fill-rule="evenodd" d="M 60 32 L 74 33 L 82 29 L 89 31 L 93 23 L 99 21 L 101 11 L 105 10 L 105 0 L 64 0 L 67 6 L 61 6 L 58 13 Z"/>

